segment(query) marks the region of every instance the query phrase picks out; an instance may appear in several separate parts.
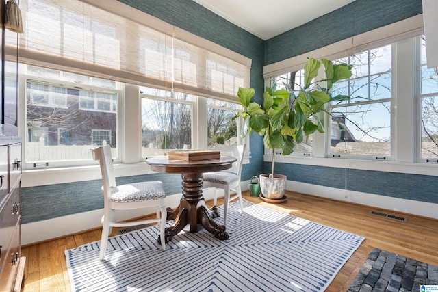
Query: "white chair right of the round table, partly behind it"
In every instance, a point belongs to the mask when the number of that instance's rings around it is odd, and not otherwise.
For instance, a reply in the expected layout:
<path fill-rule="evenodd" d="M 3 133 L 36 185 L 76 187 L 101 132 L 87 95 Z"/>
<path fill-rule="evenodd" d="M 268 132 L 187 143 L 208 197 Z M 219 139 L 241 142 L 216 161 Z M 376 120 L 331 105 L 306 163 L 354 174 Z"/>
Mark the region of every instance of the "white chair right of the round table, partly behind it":
<path fill-rule="evenodd" d="M 228 170 L 220 172 L 207 172 L 203 174 L 203 185 L 224 189 L 224 225 L 227 225 L 229 202 L 239 199 L 240 211 L 244 211 L 242 203 L 242 190 L 240 188 L 240 176 L 242 174 L 242 163 L 245 155 L 245 144 L 243 145 L 222 145 L 215 144 L 214 150 L 219 150 L 220 155 L 232 156 L 237 159 Z M 233 196 L 231 196 L 233 194 Z M 214 206 L 218 202 L 216 189 L 214 191 Z"/>

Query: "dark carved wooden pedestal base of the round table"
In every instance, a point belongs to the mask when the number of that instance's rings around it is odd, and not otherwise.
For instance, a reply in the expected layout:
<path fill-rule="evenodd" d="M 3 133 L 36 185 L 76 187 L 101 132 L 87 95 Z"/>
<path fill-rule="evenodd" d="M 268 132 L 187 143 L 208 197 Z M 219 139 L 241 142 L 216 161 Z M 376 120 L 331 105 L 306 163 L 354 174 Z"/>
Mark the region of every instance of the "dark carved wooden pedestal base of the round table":
<path fill-rule="evenodd" d="M 196 233 L 198 224 L 213 233 L 214 237 L 220 240 L 228 239 L 226 227 L 216 224 L 212 219 L 219 216 L 216 206 L 211 211 L 205 206 L 202 174 L 188 173 L 182 174 L 182 177 L 183 197 L 179 207 L 175 210 L 168 209 L 168 219 L 175 218 L 175 222 L 166 228 L 166 243 L 171 241 L 187 225 L 189 225 L 189 232 Z M 177 214 L 176 217 L 175 214 Z M 160 243 L 159 237 L 158 242 Z"/>

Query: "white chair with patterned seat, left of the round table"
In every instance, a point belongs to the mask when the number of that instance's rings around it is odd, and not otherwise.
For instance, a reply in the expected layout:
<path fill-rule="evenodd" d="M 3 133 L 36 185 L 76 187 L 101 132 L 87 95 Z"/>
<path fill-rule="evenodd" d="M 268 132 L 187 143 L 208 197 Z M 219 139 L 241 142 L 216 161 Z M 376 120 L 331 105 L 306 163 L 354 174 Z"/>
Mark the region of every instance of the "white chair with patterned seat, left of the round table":
<path fill-rule="evenodd" d="M 110 145 L 98 146 L 92 149 L 94 160 L 99 160 L 102 174 L 102 192 L 104 197 L 102 217 L 101 251 L 99 259 L 105 258 L 108 236 L 112 227 L 135 226 L 140 224 L 157 223 L 162 250 L 166 250 L 164 228 L 166 225 L 166 205 L 164 204 L 163 184 L 161 181 L 145 181 L 116 185 L 116 176 L 112 164 Z M 114 212 L 116 210 L 139 209 L 155 207 L 157 217 L 140 221 L 115 222 Z"/>

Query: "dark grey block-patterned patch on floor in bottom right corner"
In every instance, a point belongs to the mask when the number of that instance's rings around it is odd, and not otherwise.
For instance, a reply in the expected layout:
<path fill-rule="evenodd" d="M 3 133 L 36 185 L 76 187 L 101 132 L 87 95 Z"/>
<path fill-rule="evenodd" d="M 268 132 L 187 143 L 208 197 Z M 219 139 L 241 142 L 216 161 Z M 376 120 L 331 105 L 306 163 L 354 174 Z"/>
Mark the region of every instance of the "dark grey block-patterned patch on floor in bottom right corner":
<path fill-rule="evenodd" d="M 347 291 L 420 291 L 421 285 L 438 285 L 438 266 L 374 248 Z"/>

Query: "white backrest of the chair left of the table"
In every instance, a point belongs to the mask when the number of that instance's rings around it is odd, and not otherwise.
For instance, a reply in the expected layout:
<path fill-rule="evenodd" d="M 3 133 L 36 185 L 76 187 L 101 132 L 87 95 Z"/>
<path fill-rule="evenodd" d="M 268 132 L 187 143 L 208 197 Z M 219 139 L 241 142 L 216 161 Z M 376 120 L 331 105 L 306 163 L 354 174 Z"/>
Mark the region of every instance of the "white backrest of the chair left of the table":
<path fill-rule="evenodd" d="M 103 181 L 103 192 L 110 194 L 111 187 L 116 187 L 116 176 L 112 165 L 111 146 L 103 145 L 92 149 L 94 160 L 99 160 Z"/>

